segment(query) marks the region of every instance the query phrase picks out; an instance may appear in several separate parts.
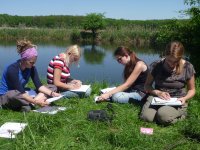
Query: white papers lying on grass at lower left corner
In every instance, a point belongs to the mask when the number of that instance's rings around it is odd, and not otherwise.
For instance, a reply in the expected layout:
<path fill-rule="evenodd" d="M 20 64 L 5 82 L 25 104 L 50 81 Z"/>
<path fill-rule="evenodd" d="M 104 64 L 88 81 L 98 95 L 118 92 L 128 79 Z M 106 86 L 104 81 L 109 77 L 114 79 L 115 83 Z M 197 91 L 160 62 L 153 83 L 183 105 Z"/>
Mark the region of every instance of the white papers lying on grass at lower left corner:
<path fill-rule="evenodd" d="M 27 126 L 26 123 L 6 122 L 0 127 L 0 137 L 15 138 Z"/>

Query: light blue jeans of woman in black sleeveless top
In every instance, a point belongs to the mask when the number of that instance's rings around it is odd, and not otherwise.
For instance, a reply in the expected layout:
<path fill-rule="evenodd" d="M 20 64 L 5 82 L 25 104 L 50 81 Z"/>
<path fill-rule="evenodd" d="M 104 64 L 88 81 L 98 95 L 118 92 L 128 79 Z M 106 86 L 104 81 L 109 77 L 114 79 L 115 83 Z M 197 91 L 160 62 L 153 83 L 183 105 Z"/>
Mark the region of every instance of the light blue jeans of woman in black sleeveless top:
<path fill-rule="evenodd" d="M 112 95 L 112 101 L 118 103 L 129 103 L 133 101 L 141 101 L 142 97 L 137 92 L 118 92 Z"/>

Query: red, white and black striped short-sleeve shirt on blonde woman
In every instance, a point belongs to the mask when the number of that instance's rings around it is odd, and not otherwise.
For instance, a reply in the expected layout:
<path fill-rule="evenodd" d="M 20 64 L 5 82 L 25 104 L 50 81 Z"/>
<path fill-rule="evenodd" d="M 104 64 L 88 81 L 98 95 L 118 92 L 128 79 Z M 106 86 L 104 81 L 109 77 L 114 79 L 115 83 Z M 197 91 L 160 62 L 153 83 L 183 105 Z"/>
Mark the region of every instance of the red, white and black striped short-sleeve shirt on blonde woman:
<path fill-rule="evenodd" d="M 66 65 L 65 59 L 61 58 L 59 55 L 55 56 L 49 63 L 47 69 L 47 83 L 53 84 L 54 79 L 54 70 L 58 68 L 61 72 L 60 81 L 63 83 L 67 82 L 67 79 L 70 77 L 70 69 Z"/>

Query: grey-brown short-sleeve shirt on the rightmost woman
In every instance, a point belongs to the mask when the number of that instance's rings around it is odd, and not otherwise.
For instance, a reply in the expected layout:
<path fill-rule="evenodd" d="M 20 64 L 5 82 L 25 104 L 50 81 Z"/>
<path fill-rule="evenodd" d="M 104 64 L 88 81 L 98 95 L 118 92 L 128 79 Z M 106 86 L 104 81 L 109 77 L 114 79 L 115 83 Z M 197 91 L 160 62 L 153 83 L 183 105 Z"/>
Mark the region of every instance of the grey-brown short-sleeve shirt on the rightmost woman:
<path fill-rule="evenodd" d="M 154 77 L 155 89 L 168 92 L 172 97 L 185 96 L 185 85 L 195 74 L 193 65 L 185 61 L 182 72 L 177 75 L 175 71 L 167 72 L 163 67 L 163 63 L 164 59 L 150 65 L 150 73 Z"/>

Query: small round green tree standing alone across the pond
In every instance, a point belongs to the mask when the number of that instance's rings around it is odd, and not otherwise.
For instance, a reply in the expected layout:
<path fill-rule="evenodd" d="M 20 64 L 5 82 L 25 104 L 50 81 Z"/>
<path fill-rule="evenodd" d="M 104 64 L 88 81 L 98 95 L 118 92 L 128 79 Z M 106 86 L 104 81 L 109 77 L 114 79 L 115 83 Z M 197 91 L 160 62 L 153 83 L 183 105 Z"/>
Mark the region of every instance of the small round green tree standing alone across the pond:
<path fill-rule="evenodd" d="M 97 37 L 98 30 L 105 28 L 105 16 L 102 13 L 90 13 L 83 21 L 83 28 L 91 30 L 93 39 Z"/>

